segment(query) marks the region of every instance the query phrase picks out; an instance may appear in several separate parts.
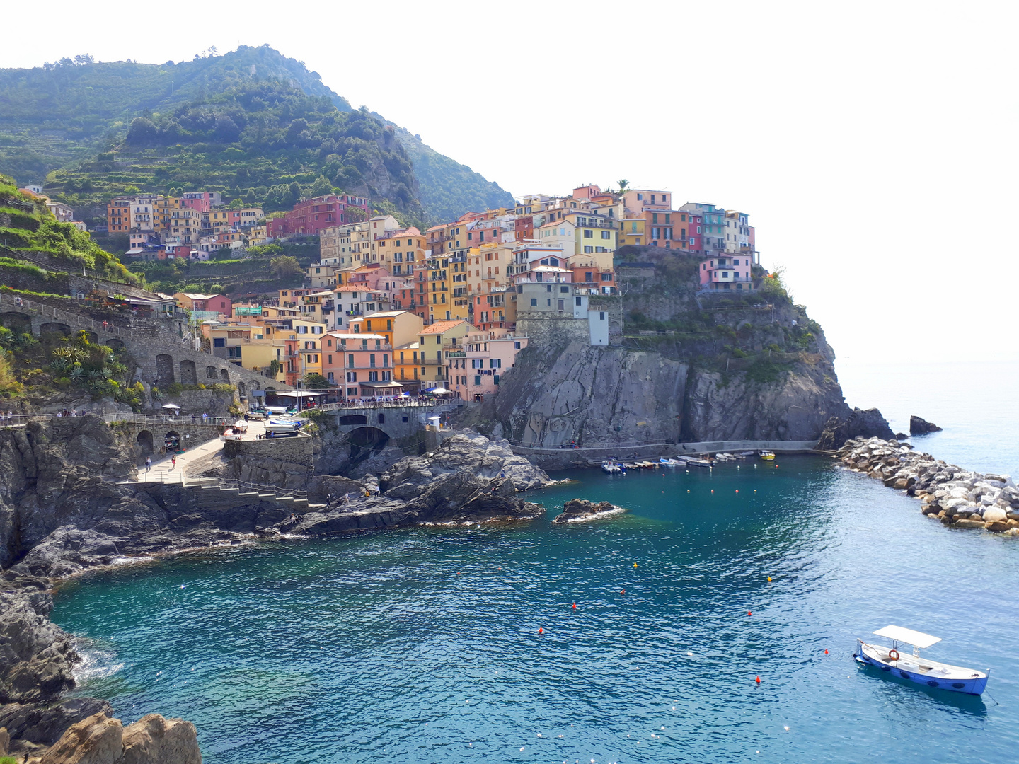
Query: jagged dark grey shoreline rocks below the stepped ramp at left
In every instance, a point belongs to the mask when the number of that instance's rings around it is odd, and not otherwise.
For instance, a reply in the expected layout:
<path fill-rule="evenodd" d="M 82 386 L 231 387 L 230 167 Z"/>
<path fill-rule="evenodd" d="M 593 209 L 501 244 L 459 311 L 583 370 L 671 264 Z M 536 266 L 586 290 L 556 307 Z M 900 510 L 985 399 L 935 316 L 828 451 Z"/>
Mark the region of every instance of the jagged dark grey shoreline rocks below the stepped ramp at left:
<path fill-rule="evenodd" d="M 9 741 L 11 753 L 45 764 L 201 762 L 190 722 L 150 715 L 123 726 L 107 702 L 66 697 L 81 656 L 49 619 L 61 579 L 258 539 L 529 520 L 545 508 L 518 494 L 552 483 L 506 441 L 477 433 L 379 477 L 333 478 L 347 496 L 303 513 L 257 495 L 103 477 L 132 469 L 129 448 L 97 417 L 0 430 L 0 755 Z"/>

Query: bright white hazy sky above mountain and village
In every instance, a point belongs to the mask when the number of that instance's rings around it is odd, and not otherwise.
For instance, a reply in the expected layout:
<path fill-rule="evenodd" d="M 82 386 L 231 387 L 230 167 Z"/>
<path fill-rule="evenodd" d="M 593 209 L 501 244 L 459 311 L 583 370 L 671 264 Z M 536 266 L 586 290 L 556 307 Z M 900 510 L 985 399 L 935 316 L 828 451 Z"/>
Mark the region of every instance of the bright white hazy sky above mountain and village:
<path fill-rule="evenodd" d="M 0 66 L 268 43 L 515 195 L 747 212 L 843 362 L 1019 358 L 1015 3 L 46 7 Z"/>

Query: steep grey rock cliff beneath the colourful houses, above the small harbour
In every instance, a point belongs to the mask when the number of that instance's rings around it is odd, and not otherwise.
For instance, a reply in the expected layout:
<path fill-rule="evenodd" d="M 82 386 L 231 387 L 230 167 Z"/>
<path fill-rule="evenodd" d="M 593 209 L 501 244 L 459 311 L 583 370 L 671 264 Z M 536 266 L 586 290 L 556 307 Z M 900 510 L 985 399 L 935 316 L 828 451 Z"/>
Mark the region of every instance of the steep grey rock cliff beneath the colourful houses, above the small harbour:
<path fill-rule="evenodd" d="M 496 432 L 541 448 L 803 441 L 851 418 L 821 327 L 780 284 L 697 296 L 691 258 L 654 257 L 653 279 L 620 268 L 625 319 L 609 346 L 552 334 L 518 356 L 487 404 Z"/>

